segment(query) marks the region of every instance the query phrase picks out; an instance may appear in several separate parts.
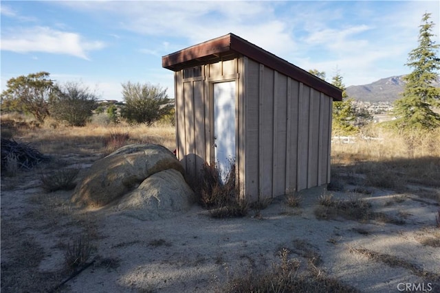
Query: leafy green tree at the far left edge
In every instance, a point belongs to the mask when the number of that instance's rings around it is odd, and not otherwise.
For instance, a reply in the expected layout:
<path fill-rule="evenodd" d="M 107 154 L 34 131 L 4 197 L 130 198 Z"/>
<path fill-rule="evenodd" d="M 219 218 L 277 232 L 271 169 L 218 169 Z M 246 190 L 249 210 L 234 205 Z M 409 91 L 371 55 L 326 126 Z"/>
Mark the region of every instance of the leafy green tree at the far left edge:
<path fill-rule="evenodd" d="M 11 78 L 1 93 L 1 105 L 8 110 L 30 113 L 43 122 L 49 116 L 49 99 L 54 89 L 50 73 L 41 71 Z"/>

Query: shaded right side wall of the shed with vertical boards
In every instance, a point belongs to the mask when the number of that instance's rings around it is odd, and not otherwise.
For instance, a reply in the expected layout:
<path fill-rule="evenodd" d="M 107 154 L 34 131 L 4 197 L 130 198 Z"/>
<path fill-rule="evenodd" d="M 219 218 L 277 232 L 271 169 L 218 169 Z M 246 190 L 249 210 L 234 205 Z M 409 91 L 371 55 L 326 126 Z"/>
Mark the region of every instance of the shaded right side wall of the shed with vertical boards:
<path fill-rule="evenodd" d="M 331 97 L 244 57 L 244 194 L 329 183 Z"/>

